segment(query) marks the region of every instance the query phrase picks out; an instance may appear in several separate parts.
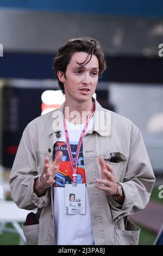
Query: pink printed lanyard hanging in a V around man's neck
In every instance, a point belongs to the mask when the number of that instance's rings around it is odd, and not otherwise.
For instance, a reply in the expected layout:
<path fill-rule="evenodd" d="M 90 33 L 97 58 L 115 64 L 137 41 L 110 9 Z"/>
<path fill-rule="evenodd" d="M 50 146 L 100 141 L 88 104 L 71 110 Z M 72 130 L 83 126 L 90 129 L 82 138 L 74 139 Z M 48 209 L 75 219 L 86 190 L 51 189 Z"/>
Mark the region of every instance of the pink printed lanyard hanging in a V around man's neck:
<path fill-rule="evenodd" d="M 92 117 L 94 109 L 95 109 L 95 104 L 93 103 L 92 109 L 91 109 L 91 113 L 89 114 L 89 116 L 86 119 L 86 123 L 84 125 L 83 131 L 82 131 L 82 133 L 80 135 L 80 138 L 79 138 L 75 161 L 73 161 L 71 146 L 70 146 L 70 142 L 69 142 L 69 139 L 68 139 L 68 130 L 67 130 L 67 127 L 66 127 L 66 118 L 65 118 L 65 109 L 64 109 L 64 130 L 65 130 L 65 137 L 66 137 L 66 142 L 67 142 L 68 156 L 69 156 L 69 159 L 70 159 L 70 163 L 71 163 L 71 167 L 72 167 L 72 172 L 73 172 L 72 173 L 73 183 L 77 182 L 77 168 L 78 168 L 78 159 L 79 159 L 80 147 L 82 145 L 83 137 L 85 135 L 87 126 L 88 126 L 89 121 L 90 121 L 90 119 Z"/>

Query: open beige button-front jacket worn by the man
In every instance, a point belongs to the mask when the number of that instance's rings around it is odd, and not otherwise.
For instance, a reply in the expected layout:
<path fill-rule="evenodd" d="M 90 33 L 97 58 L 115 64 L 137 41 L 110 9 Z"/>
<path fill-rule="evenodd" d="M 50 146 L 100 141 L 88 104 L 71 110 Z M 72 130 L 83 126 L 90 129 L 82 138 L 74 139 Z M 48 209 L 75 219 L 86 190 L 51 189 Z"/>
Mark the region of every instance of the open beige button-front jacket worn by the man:
<path fill-rule="evenodd" d="M 63 108 L 64 104 L 27 125 L 11 170 L 11 198 L 19 208 L 37 208 L 39 212 L 39 224 L 23 226 L 27 244 L 54 244 L 53 189 L 37 197 L 34 181 L 42 172 L 45 157 L 52 161 L 53 145 L 58 140 L 57 132 L 61 131 Z M 131 223 L 128 216 L 145 208 L 149 201 L 155 181 L 152 166 L 141 132 L 130 120 L 102 108 L 97 101 L 95 110 L 95 126 L 83 138 L 95 244 L 135 245 L 139 242 L 140 228 Z M 123 205 L 95 188 L 96 178 L 101 178 L 100 155 L 108 162 L 111 155 L 120 159 L 118 163 L 109 163 L 123 187 Z"/>

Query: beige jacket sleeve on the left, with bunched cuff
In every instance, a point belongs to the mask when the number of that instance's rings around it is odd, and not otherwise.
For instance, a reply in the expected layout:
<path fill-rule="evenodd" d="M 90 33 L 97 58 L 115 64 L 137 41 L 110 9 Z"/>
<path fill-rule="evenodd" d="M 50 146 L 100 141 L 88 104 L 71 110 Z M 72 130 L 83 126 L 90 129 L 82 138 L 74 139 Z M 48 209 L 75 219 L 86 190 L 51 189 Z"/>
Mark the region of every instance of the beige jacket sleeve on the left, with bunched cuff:
<path fill-rule="evenodd" d="M 49 202 L 49 189 L 42 197 L 37 197 L 34 192 L 34 182 L 39 174 L 33 151 L 27 126 L 18 146 L 9 178 L 12 200 L 19 208 L 26 210 L 42 208 Z"/>

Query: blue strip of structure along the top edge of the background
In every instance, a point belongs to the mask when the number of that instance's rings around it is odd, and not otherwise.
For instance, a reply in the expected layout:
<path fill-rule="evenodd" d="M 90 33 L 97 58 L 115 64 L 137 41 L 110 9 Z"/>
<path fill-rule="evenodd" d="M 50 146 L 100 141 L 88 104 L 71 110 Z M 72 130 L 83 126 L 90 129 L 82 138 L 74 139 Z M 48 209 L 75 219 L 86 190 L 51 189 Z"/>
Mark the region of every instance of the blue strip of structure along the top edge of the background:
<path fill-rule="evenodd" d="M 111 16 L 163 17 L 162 0 L 1 0 L 0 8 L 21 8 L 66 13 L 96 13 Z"/>

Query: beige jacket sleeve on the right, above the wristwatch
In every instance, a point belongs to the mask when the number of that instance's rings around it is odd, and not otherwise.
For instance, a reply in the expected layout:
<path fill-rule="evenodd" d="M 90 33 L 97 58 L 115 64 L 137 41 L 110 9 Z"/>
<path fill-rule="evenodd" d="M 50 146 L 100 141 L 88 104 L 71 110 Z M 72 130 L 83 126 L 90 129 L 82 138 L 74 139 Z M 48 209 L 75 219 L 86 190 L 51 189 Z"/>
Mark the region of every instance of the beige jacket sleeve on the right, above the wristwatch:
<path fill-rule="evenodd" d="M 109 196 L 114 222 L 123 216 L 133 215 L 149 202 L 155 176 L 140 130 L 134 126 L 131 133 L 129 159 L 123 182 L 123 205 Z"/>

